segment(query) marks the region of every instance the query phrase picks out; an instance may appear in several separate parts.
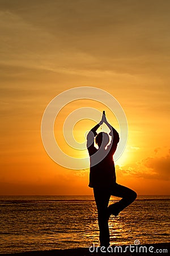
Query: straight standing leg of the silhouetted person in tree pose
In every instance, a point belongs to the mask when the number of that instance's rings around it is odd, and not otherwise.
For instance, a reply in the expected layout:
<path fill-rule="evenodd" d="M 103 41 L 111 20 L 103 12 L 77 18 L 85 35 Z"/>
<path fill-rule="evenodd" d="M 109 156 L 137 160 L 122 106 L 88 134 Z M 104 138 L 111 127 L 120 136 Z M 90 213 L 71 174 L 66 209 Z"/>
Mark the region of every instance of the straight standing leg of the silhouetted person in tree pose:
<path fill-rule="evenodd" d="M 111 192 L 104 188 L 94 188 L 94 196 L 98 212 L 99 240 L 100 246 L 109 246 L 109 226 L 108 226 L 108 204 Z"/>

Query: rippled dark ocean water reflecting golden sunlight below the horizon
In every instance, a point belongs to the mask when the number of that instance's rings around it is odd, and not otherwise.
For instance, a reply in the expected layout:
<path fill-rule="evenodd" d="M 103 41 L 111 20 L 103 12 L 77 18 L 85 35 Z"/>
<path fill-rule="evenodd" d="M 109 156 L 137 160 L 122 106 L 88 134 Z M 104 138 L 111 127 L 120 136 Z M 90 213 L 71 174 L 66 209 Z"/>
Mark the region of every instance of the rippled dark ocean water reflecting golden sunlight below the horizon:
<path fill-rule="evenodd" d="M 111 245 L 169 242 L 169 202 L 138 196 L 109 219 Z M 0 206 L 0 253 L 99 245 L 93 196 L 0 196 Z"/>

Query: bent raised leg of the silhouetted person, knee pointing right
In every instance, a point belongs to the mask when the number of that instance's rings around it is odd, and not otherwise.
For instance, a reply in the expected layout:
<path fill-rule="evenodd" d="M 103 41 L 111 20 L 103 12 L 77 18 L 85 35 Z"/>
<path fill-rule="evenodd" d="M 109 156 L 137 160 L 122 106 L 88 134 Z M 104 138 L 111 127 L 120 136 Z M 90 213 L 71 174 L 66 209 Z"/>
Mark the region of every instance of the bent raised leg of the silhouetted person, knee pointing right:
<path fill-rule="evenodd" d="M 130 205 L 137 198 L 136 192 L 117 183 L 115 183 L 115 185 L 112 187 L 111 195 L 122 197 L 120 201 L 111 204 L 108 207 L 109 215 L 113 214 L 114 216 L 117 216 L 121 210 L 128 207 L 128 205 Z"/>

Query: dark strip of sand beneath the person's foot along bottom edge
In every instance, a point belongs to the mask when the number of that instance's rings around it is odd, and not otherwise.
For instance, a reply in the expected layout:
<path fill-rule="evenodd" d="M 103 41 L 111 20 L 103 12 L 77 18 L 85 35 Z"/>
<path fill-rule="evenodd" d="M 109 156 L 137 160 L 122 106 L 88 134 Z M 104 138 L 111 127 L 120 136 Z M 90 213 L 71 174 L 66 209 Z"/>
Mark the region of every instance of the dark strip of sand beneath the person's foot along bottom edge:
<path fill-rule="evenodd" d="M 169 245 L 170 243 L 151 243 L 147 245 L 123 245 L 123 246 L 111 246 L 109 247 L 109 253 L 107 249 L 103 248 L 103 252 L 100 248 L 95 251 L 91 247 L 91 252 L 88 247 L 86 248 L 75 248 L 66 250 L 46 250 L 46 251 L 28 251 L 25 253 L 12 253 L 12 254 L 0 254 L 10 255 L 10 256 L 95 256 L 95 255 L 169 255 Z M 127 247 L 128 246 L 128 247 Z"/>

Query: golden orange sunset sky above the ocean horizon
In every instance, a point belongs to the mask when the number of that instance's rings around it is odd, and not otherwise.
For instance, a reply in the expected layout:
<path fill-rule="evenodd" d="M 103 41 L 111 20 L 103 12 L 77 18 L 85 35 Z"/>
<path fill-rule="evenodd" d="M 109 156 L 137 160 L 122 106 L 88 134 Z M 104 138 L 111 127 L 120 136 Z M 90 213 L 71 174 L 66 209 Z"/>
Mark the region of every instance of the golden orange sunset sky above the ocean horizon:
<path fill-rule="evenodd" d="M 0 10 L 1 195 L 92 194 L 88 170 L 59 166 L 41 141 L 46 106 L 77 86 L 106 90 L 126 113 L 117 183 L 169 195 L 170 2 L 0 0 Z M 58 122 L 84 106 L 103 110 L 74 102 Z M 78 140 L 91 125 L 75 126 Z"/>

